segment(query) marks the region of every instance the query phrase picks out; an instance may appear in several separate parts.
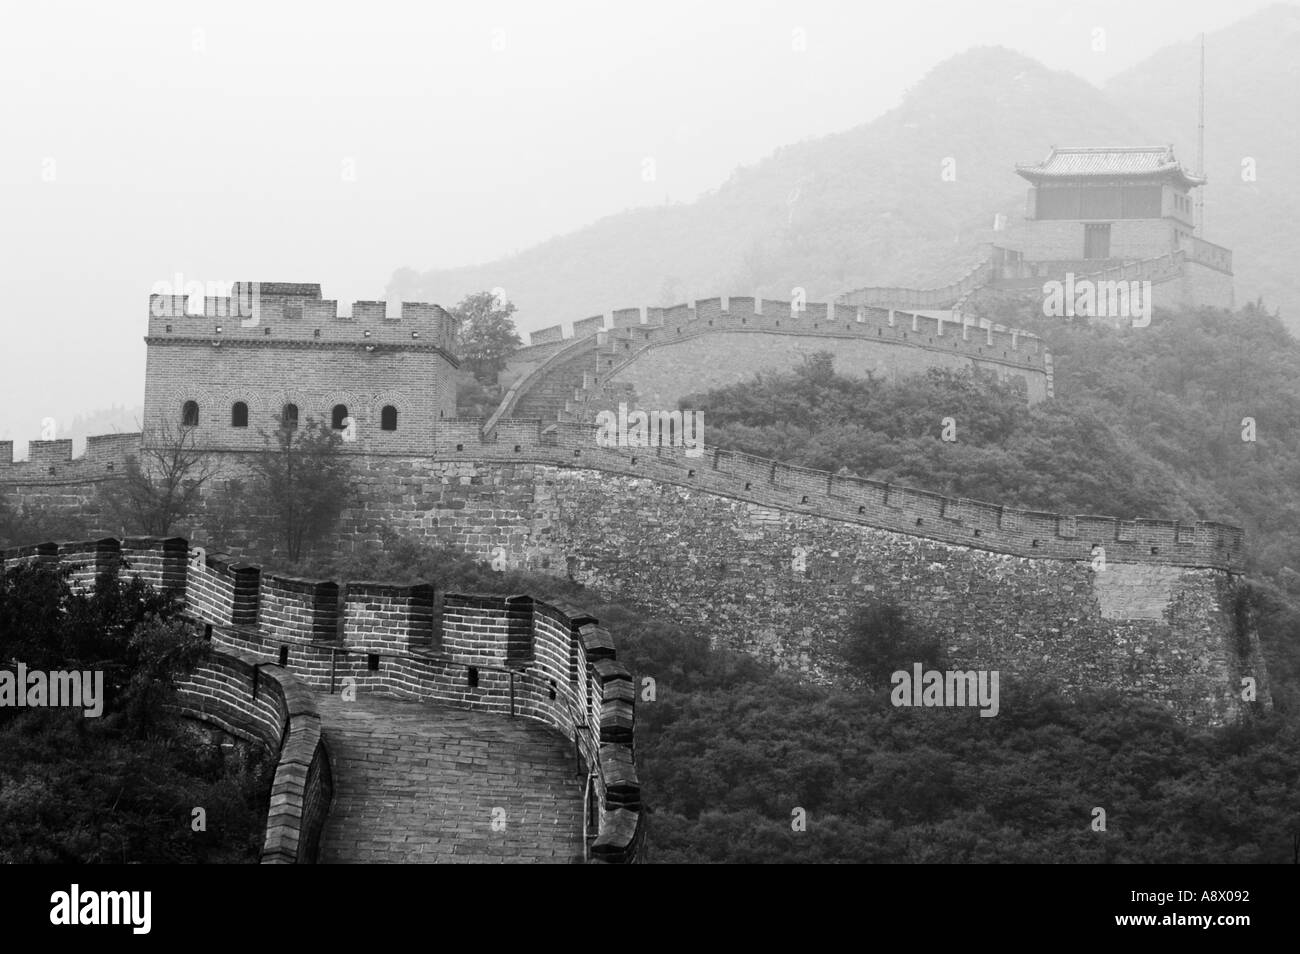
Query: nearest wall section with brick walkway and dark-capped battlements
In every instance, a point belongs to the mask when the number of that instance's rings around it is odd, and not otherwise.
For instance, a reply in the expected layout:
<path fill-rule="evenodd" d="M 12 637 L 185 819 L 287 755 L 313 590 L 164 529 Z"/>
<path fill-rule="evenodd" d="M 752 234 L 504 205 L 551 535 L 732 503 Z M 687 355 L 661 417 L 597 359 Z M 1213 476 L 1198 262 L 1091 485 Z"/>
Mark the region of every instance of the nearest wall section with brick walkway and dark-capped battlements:
<path fill-rule="evenodd" d="M 581 610 L 523 595 L 438 598 L 432 585 L 339 587 L 263 573 L 191 551 L 179 538 L 0 551 L 0 572 L 27 563 L 66 567 L 72 585 L 83 591 L 103 574 L 118 573 L 139 576 L 182 600 L 183 615 L 203 629 L 212 652 L 181 682 L 181 714 L 257 743 L 277 759 L 263 863 L 308 863 L 322 854 L 359 860 L 350 855 L 352 845 L 382 844 L 385 833 L 367 825 L 364 815 L 358 820 L 330 811 L 341 797 L 354 803 L 382 797 L 390 814 L 400 814 L 403 801 L 416 802 L 412 818 L 432 806 L 430 854 L 442 851 L 447 860 L 508 860 L 520 842 L 534 853 L 549 847 L 550 857 L 542 853 L 538 860 L 637 858 L 644 829 L 633 762 L 636 693 L 610 633 Z M 341 701 L 346 688 L 355 695 Z M 424 703 L 407 714 L 408 721 L 412 715 L 417 724 L 451 721 L 456 741 L 473 746 L 464 758 L 485 763 L 482 768 L 458 781 L 448 777 L 455 773 L 448 764 L 425 794 L 400 780 L 393 786 L 382 775 L 365 777 L 373 760 L 384 759 L 373 738 L 361 741 L 361 758 L 341 764 L 339 754 L 355 743 L 350 716 L 380 697 Z M 507 723 L 516 719 L 536 727 Z M 515 736 L 506 738 L 510 745 L 502 740 L 507 732 Z M 437 759 L 433 750 L 424 755 Z M 512 771 L 515 762 L 530 771 Z M 491 781 L 499 785 L 486 784 Z M 367 790 L 367 782 L 377 790 Z M 490 808 L 500 812 L 500 834 Z M 590 836 L 588 829 L 594 829 Z M 403 841 L 420 842 L 421 833 L 416 825 Z M 465 845 L 476 854 L 450 857 Z"/>

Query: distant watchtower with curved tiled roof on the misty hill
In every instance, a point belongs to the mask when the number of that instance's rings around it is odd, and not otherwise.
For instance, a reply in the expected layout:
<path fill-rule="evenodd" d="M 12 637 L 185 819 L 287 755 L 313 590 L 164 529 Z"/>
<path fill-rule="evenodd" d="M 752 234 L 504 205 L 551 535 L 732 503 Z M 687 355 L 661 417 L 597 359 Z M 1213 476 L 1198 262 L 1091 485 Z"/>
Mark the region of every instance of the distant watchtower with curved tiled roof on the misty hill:
<path fill-rule="evenodd" d="M 1052 147 L 1015 172 L 1028 201 L 1024 221 L 998 234 L 994 285 L 1123 269 L 1158 283 L 1166 303 L 1232 307 L 1232 252 L 1197 234 L 1192 190 L 1205 179 L 1171 146 Z"/>

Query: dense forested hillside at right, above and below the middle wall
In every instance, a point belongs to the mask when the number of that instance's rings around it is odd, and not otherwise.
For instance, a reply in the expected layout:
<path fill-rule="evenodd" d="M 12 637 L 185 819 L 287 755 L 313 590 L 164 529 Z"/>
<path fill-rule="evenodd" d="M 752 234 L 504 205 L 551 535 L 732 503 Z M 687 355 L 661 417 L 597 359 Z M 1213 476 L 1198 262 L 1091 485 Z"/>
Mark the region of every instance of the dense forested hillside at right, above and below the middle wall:
<path fill-rule="evenodd" d="M 1300 344 L 1254 307 L 1157 313 L 1127 331 L 1004 317 L 1048 339 L 1056 400 L 1028 408 L 937 370 L 863 382 L 814 359 L 682 407 L 703 411 L 711 446 L 807 467 L 1035 509 L 1245 526 L 1274 712 L 1206 732 L 1131 697 L 1066 702 L 1017 684 L 997 719 L 916 717 L 883 693 L 797 685 L 660 634 L 634 645 L 685 690 L 638 712 L 662 860 L 1294 860 Z M 941 439 L 944 417 L 956 442 Z M 926 636 L 879 610 L 858 629 L 887 667 L 922 658 Z M 809 811 L 806 833 L 780 824 L 790 806 Z M 1095 808 L 1105 834 L 1089 827 Z"/>

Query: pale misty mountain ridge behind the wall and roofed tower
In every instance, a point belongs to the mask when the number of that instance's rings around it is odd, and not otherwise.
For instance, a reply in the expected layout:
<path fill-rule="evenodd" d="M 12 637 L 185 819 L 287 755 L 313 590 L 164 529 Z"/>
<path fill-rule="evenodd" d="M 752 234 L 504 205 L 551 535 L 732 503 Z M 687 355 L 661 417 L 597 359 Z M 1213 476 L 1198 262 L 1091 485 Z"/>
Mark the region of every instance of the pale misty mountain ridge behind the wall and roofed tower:
<path fill-rule="evenodd" d="M 1274 6 L 1209 34 L 1204 238 L 1235 252 L 1238 299 L 1300 313 L 1300 13 Z M 467 268 L 399 269 L 389 298 L 454 304 L 502 287 L 523 330 L 715 295 L 824 300 L 864 285 L 953 281 L 991 240 L 994 213 L 1023 214 L 1017 162 L 1052 144 L 1173 143 L 1196 162 L 1199 44 L 1165 48 L 1097 88 L 1001 47 L 930 70 L 864 125 L 777 149 L 689 204 L 608 216 L 519 255 Z M 1254 182 L 1242 181 L 1252 157 Z M 956 178 L 941 177 L 952 160 Z"/>

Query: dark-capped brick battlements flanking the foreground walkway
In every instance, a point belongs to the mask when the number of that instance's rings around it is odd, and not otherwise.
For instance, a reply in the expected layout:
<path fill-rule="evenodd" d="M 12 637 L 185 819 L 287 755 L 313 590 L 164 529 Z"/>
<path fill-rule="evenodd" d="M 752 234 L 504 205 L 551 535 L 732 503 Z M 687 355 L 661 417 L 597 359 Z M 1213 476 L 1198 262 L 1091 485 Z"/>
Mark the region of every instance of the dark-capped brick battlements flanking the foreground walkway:
<path fill-rule="evenodd" d="M 330 785 L 318 719 L 312 721 L 315 703 L 294 688 L 295 677 L 316 691 L 335 693 L 348 680 L 359 693 L 550 725 L 573 741 L 590 767 L 599 815 L 593 860 L 637 858 L 644 827 L 632 673 L 616 660 L 608 632 L 585 611 L 524 595 L 445 594 L 436 632 L 433 584 L 358 581 L 339 587 L 265 573 L 218 552 L 191 550 L 179 538 L 13 547 L 0 551 L 0 573 L 32 561 L 69 567 L 78 585 L 117 571 L 183 600 L 220 652 L 182 682 L 182 712 L 228 730 L 260 725 L 268 740 L 286 740 L 280 768 L 299 776 L 290 819 L 283 801 L 272 799 L 264 862 L 302 860 L 308 842 L 315 850 L 324 820 L 317 789 Z M 276 664 L 266 662 L 272 659 Z M 273 681 L 259 699 L 263 668 Z M 276 681 L 281 673 L 289 678 Z M 304 716 L 296 733 L 290 730 L 295 715 Z M 328 790 L 324 799 L 328 805 Z"/>

